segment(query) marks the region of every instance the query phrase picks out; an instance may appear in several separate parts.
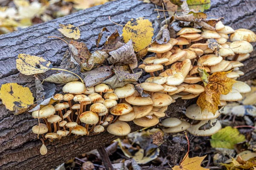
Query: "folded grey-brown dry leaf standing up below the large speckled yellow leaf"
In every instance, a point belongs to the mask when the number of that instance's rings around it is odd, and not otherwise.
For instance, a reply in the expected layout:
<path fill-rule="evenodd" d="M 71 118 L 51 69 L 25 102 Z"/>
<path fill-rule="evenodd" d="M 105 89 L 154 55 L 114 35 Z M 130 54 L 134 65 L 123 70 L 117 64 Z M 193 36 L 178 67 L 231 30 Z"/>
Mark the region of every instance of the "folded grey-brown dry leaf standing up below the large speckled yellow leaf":
<path fill-rule="evenodd" d="M 137 63 L 137 58 L 134 53 L 132 41 L 129 40 L 125 45 L 109 52 L 108 62 L 115 65 L 128 65 Z"/>

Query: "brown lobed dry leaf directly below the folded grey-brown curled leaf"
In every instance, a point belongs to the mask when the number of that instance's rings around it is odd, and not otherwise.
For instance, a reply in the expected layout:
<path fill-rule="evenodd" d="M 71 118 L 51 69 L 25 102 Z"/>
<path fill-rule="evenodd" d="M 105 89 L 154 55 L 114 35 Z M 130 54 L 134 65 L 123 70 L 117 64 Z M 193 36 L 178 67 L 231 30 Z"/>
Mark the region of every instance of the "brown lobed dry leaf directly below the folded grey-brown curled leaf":
<path fill-rule="evenodd" d="M 137 73 L 131 74 L 131 73 L 129 73 L 129 71 L 125 71 L 122 66 L 117 66 L 117 65 L 113 68 L 113 71 L 115 72 L 119 82 L 138 81 L 138 79 L 140 78 L 140 76 L 142 74 L 142 70 Z"/>

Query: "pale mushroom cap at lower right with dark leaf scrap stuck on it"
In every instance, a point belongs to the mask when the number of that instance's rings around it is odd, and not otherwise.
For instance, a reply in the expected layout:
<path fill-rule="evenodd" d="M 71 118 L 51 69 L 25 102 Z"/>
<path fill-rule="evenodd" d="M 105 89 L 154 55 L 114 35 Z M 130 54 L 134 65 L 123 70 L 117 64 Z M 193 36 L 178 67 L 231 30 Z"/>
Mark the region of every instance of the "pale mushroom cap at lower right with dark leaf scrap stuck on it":
<path fill-rule="evenodd" d="M 210 129 L 204 130 L 203 126 L 204 124 L 207 124 L 209 121 L 209 124 L 211 126 Z M 202 129 L 199 129 L 202 128 Z M 218 119 L 212 119 L 212 120 L 202 120 L 196 125 L 192 125 L 187 129 L 189 133 L 195 136 L 210 136 L 213 135 L 214 133 L 217 133 L 219 130 L 221 130 L 221 123 L 218 121 Z"/>

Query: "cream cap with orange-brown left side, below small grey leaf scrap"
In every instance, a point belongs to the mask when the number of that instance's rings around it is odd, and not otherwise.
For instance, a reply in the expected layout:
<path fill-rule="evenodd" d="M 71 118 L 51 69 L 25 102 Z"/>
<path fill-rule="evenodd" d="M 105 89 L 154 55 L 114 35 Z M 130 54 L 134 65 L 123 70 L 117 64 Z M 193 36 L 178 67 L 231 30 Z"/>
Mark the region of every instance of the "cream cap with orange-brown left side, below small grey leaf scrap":
<path fill-rule="evenodd" d="M 222 57 L 221 56 L 215 56 L 215 54 L 208 54 L 208 55 L 204 55 L 202 57 L 200 57 L 198 59 L 197 65 L 198 66 L 202 66 L 202 65 L 216 65 L 218 63 L 220 63 L 222 61 Z"/>

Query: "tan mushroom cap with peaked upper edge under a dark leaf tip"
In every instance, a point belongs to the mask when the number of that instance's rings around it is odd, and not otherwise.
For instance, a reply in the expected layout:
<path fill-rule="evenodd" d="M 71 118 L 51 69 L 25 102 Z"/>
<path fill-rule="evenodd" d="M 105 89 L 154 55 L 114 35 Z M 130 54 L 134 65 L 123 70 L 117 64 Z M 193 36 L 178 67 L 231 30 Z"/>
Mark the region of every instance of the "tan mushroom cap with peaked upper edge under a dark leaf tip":
<path fill-rule="evenodd" d="M 139 106 L 153 104 L 153 101 L 149 96 L 142 97 L 137 91 L 135 91 L 133 95 L 126 97 L 125 101 L 130 103 L 131 105 L 139 105 Z"/>

